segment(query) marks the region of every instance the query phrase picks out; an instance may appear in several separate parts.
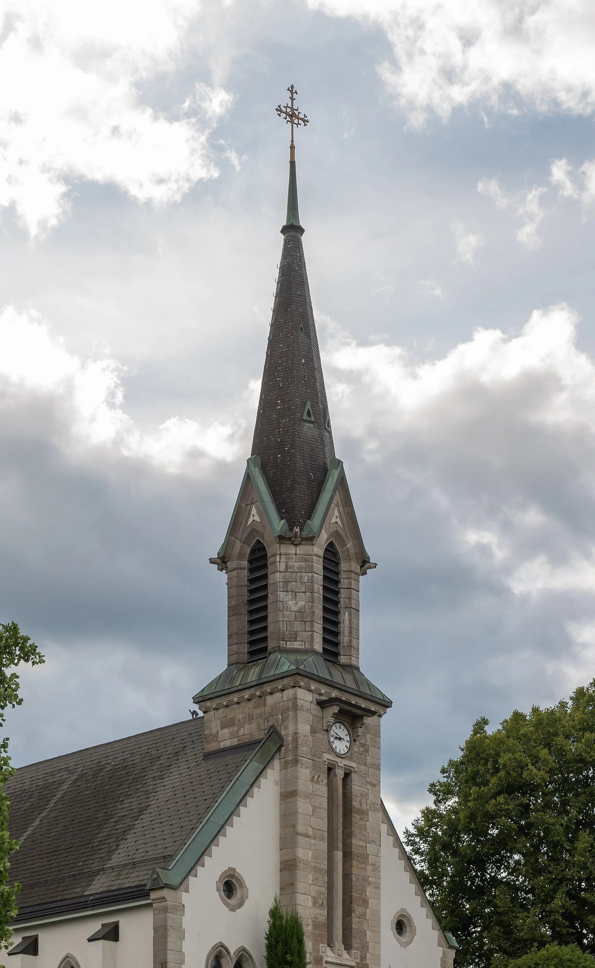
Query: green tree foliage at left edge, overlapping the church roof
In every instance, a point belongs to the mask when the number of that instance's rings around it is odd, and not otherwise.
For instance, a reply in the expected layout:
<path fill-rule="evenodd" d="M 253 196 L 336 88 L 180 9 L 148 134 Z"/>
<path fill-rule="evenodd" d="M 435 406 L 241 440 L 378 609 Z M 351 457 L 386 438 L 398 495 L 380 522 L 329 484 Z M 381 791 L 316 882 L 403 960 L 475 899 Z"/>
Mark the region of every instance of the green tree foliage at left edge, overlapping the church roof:
<path fill-rule="evenodd" d="M 15 709 L 15 706 L 22 704 L 15 667 L 22 663 L 40 665 L 42 662 L 44 656 L 28 635 L 21 635 L 15 621 L 0 623 L 0 726 L 4 725 L 8 707 Z M 9 947 L 13 934 L 9 924 L 15 920 L 16 895 L 20 891 L 20 884 L 11 885 L 9 882 L 9 859 L 17 849 L 18 841 L 13 840 L 9 833 L 10 803 L 3 790 L 4 784 L 15 772 L 8 747 L 8 737 L 5 737 L 0 741 L 0 949 Z"/>

